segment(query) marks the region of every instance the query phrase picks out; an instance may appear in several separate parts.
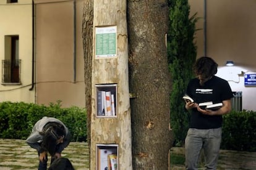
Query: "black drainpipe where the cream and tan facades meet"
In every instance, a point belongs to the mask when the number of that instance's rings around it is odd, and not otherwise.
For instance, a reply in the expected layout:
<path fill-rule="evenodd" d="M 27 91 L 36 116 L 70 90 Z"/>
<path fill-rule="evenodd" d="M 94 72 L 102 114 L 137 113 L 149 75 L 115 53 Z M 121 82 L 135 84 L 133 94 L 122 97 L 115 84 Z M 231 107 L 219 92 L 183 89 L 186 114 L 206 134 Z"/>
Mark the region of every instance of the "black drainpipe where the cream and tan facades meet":
<path fill-rule="evenodd" d="M 32 86 L 29 91 L 32 91 L 34 88 L 34 72 L 35 72 L 35 4 L 32 0 Z"/>

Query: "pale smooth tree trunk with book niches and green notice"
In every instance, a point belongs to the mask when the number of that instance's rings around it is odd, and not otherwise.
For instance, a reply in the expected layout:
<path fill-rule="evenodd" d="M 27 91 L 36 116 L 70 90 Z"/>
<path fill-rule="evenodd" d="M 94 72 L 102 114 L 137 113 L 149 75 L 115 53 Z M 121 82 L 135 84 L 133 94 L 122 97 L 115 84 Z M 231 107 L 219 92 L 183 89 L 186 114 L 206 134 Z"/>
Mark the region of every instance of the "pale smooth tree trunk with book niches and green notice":
<path fill-rule="evenodd" d="M 85 57 L 85 84 L 86 91 L 90 93 L 90 96 L 86 94 L 86 97 L 91 100 L 87 105 L 90 107 L 90 112 L 87 112 L 90 119 L 88 120 L 90 169 L 102 169 L 108 166 L 107 153 L 117 156 L 119 169 L 132 169 L 126 0 L 86 2 L 94 4 L 93 9 L 90 7 L 91 4 L 85 4 L 83 17 L 85 20 L 83 27 L 87 27 L 83 30 L 85 51 L 87 51 L 86 46 L 92 47 L 92 49 L 88 47 L 90 54 L 85 53 L 90 56 Z M 86 10 L 93 10 L 93 20 L 90 18 L 92 14 Z M 86 26 L 87 20 L 90 23 L 88 26 Z M 86 39 L 88 33 L 89 38 L 92 34 L 92 41 Z M 109 49 L 116 53 L 108 53 Z M 99 108 L 104 103 L 99 95 L 103 91 L 110 91 L 114 95 L 116 100 L 113 101 L 113 110 L 116 115 L 111 115 L 112 113 L 98 115 L 98 111 L 101 110 Z M 105 113 L 107 110 L 105 109 Z"/>

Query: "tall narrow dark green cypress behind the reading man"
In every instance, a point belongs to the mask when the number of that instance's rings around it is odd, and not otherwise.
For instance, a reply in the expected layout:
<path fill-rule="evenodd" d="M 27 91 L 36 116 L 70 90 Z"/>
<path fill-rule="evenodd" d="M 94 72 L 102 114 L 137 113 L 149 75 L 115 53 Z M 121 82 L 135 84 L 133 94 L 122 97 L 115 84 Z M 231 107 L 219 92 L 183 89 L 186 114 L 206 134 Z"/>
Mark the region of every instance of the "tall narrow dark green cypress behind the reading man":
<path fill-rule="evenodd" d="M 189 129 L 189 116 L 182 96 L 186 92 L 189 80 L 193 78 L 192 65 L 197 56 L 194 44 L 195 15 L 189 18 L 188 1 L 169 1 L 168 63 L 173 79 L 170 96 L 171 127 L 174 134 L 174 145 L 182 146 Z"/>

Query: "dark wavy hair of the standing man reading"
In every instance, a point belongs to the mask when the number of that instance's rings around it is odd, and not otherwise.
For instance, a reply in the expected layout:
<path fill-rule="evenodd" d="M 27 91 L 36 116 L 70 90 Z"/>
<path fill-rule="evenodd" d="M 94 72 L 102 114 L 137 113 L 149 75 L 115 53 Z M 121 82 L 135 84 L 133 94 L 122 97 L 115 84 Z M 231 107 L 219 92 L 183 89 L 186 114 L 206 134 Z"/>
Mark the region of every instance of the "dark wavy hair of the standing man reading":
<path fill-rule="evenodd" d="M 217 73 L 218 64 L 210 57 L 200 57 L 193 66 L 195 75 L 209 78 Z"/>

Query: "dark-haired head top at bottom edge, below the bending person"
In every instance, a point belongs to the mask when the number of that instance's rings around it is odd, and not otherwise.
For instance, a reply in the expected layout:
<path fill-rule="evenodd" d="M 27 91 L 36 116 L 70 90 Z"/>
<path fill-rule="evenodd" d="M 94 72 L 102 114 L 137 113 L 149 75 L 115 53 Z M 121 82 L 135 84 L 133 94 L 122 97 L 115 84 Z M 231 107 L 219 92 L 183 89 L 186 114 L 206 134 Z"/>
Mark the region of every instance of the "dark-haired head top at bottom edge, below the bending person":
<path fill-rule="evenodd" d="M 58 158 L 51 163 L 48 170 L 75 170 L 68 158 Z"/>

